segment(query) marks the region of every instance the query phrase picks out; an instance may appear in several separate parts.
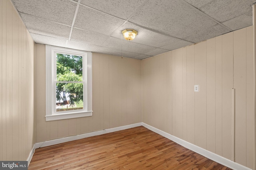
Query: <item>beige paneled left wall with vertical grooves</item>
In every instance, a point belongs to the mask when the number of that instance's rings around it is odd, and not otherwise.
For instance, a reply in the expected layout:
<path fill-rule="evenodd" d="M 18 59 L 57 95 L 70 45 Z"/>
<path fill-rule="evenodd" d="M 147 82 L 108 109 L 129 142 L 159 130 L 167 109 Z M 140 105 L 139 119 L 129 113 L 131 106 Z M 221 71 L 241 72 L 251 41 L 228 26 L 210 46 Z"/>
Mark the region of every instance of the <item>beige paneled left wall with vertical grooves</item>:
<path fill-rule="evenodd" d="M 26 160 L 35 142 L 35 43 L 10 0 L 0 1 L 0 160 Z"/>

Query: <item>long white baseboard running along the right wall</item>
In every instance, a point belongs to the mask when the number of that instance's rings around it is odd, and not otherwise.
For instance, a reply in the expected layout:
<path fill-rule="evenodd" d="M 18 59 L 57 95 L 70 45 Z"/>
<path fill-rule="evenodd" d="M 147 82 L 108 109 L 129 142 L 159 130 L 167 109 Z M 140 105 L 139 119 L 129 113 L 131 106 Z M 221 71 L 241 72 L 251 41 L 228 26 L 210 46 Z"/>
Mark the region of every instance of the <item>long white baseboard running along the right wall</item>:
<path fill-rule="evenodd" d="M 173 135 L 170 135 L 169 133 L 166 133 L 164 131 L 161 131 L 155 127 L 152 127 L 146 123 L 142 123 L 142 126 L 146 127 L 147 129 L 155 132 L 155 133 L 158 133 L 159 135 L 163 136 L 163 137 L 166 137 L 167 139 L 170 139 L 171 141 L 174 141 L 175 143 L 178 143 L 179 145 L 187 148 L 187 149 L 190 149 L 202 156 L 205 156 L 206 158 L 209 158 L 210 160 L 213 160 L 215 162 L 218 162 L 219 164 L 222 164 L 228 168 L 231 168 L 233 170 L 252 170 L 250 168 L 247 168 L 246 166 L 243 166 L 241 164 L 238 164 L 236 162 L 233 162 L 232 160 L 229 160 L 227 158 L 224 158 L 218 154 L 215 154 L 213 152 L 210 152 L 206 149 L 203 149 L 201 147 L 198 147 L 192 143 L 189 143 L 187 141 L 184 141 L 178 137 L 175 137 Z"/>

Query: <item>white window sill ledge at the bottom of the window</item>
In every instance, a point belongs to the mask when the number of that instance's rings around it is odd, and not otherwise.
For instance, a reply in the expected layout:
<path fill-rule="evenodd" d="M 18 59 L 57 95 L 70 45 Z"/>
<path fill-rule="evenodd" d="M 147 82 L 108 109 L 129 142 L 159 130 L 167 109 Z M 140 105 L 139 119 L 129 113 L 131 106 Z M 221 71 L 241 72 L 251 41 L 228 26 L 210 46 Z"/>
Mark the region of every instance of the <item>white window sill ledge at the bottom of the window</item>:
<path fill-rule="evenodd" d="M 52 115 L 46 115 L 46 121 L 62 120 L 62 119 L 72 119 L 78 117 L 88 117 L 92 116 L 92 111 L 79 111 L 79 112 L 69 112 L 69 113 L 58 113 Z"/>

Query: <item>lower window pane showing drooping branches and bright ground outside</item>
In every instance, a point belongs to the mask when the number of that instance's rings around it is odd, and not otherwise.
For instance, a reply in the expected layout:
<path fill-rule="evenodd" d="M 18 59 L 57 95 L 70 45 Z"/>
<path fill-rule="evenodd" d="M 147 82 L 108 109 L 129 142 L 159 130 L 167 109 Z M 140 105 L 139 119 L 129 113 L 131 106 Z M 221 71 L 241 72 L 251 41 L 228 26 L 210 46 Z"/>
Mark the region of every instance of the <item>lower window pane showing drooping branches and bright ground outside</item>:
<path fill-rule="evenodd" d="M 56 111 L 84 109 L 83 83 L 56 83 Z"/>

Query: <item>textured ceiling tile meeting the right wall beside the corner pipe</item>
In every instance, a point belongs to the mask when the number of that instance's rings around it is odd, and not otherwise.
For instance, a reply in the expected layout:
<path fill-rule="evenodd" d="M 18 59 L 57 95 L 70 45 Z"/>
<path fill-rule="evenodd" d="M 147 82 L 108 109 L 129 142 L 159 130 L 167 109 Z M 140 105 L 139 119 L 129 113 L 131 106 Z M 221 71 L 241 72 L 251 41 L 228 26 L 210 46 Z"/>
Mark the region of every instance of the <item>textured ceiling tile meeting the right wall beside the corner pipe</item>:
<path fill-rule="evenodd" d="M 252 11 L 222 23 L 232 30 L 241 29 L 252 25 Z"/>

